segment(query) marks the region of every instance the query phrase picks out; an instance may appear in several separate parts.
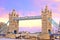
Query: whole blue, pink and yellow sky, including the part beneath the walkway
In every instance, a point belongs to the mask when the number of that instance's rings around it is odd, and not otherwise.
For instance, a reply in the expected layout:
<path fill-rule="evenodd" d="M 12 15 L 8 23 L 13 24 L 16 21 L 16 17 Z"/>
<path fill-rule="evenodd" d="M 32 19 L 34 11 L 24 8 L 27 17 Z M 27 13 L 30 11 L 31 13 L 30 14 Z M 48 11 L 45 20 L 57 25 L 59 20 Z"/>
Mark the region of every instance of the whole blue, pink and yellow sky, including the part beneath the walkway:
<path fill-rule="evenodd" d="M 16 10 L 20 17 L 39 16 L 46 5 L 49 10 L 52 11 L 52 18 L 59 23 L 60 0 L 0 0 L 0 22 L 6 23 L 9 17 L 8 14 L 11 13 L 13 9 Z M 19 21 L 19 30 L 39 32 L 41 25 L 41 19 Z"/>

